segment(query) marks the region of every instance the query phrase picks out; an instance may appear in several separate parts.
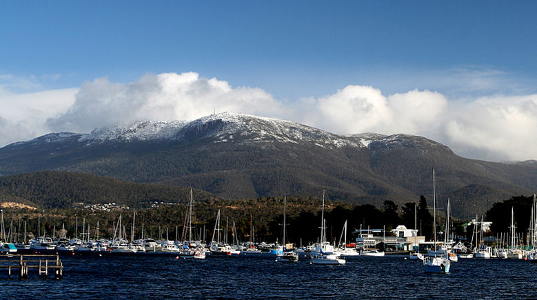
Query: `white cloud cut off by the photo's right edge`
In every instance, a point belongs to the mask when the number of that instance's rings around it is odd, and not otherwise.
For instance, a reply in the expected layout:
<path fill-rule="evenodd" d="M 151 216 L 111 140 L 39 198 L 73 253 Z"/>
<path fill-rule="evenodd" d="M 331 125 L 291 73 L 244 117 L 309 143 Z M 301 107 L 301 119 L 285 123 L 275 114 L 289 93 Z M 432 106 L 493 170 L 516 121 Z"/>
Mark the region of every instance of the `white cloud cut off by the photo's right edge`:
<path fill-rule="evenodd" d="M 449 145 L 488 160 L 537 159 L 537 94 L 483 97 L 454 105 Z"/>

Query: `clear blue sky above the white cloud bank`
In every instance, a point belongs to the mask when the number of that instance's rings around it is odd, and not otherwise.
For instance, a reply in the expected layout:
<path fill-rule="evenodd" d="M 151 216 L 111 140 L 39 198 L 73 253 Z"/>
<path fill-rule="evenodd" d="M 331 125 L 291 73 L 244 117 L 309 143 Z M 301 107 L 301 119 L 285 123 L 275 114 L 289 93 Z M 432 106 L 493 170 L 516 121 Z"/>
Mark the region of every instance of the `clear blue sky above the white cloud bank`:
<path fill-rule="evenodd" d="M 429 90 L 448 103 L 529 97 L 516 98 L 519 104 L 537 92 L 536 1 L 0 3 L 0 92 L 10 97 L 169 72 L 259 88 L 287 109 L 347 86 L 370 86 L 387 98 Z M 470 157 L 509 158 L 429 133 Z"/>

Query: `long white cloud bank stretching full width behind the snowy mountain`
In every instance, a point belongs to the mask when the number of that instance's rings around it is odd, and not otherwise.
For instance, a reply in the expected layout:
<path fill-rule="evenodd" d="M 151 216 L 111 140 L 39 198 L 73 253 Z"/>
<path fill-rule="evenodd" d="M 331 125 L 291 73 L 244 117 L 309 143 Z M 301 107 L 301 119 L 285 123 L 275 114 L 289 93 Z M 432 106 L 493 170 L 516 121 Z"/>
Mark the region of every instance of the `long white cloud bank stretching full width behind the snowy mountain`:
<path fill-rule="evenodd" d="M 99 78 L 77 89 L 28 93 L 0 83 L 0 106 L 0 145 L 139 120 L 192 120 L 216 110 L 289 119 L 338 134 L 420 135 L 464 157 L 537 159 L 536 94 L 447 99 L 430 90 L 385 95 L 351 85 L 323 97 L 283 101 L 260 88 L 185 72 L 146 74 L 132 83 Z"/>

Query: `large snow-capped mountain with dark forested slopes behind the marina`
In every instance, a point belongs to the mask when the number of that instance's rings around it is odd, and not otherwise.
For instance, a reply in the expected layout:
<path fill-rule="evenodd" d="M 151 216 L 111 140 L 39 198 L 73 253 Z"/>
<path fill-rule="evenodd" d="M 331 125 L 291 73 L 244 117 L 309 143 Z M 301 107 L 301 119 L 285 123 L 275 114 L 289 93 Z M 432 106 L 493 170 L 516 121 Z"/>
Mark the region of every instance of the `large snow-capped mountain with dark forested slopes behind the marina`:
<path fill-rule="evenodd" d="M 446 146 L 408 134 L 338 135 L 247 114 L 195 121 L 140 121 L 90 134 L 52 133 L 0 148 L 0 174 L 62 170 L 136 183 L 194 186 L 226 199 L 290 194 L 349 203 L 452 197 L 465 213 L 537 190 L 535 163 L 458 157 Z M 430 202 L 429 202 L 430 203 Z M 463 210 L 461 210 L 462 212 Z"/>

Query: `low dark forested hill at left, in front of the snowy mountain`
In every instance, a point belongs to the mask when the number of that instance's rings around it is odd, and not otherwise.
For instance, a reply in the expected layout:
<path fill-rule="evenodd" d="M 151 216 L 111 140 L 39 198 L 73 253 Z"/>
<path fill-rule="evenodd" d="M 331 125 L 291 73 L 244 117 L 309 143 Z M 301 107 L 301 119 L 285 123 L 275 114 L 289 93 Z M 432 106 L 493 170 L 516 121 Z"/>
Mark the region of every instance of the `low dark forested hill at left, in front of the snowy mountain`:
<path fill-rule="evenodd" d="M 43 171 L 0 177 L 0 200 L 37 208 L 72 208 L 79 203 L 145 208 L 155 203 L 187 203 L 189 197 L 190 188 L 132 183 L 93 174 Z M 194 197 L 198 201 L 220 199 L 201 190 L 194 190 Z"/>

